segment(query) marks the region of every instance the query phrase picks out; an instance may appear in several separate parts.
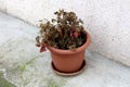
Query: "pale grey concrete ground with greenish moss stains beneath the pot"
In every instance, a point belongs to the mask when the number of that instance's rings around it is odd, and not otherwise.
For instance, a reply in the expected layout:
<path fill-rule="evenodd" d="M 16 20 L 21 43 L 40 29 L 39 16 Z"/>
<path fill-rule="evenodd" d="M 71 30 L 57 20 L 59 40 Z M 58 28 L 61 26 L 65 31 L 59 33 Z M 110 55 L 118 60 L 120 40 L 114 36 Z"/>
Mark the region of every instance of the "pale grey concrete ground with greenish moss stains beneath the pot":
<path fill-rule="evenodd" d="M 130 67 L 90 50 L 82 74 L 56 75 L 51 70 L 50 52 L 39 53 L 35 46 L 38 28 L 0 13 L 0 73 L 6 82 L 16 87 L 130 87 Z"/>

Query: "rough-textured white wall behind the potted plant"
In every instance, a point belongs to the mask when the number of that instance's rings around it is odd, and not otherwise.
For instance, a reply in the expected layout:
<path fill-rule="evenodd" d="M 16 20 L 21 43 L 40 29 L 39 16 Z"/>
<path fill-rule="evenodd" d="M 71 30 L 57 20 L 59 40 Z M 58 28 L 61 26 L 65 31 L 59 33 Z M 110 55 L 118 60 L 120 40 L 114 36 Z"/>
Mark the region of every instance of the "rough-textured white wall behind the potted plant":
<path fill-rule="evenodd" d="M 91 50 L 130 66 L 130 0 L 0 0 L 1 11 L 34 25 L 58 9 L 83 20 Z"/>

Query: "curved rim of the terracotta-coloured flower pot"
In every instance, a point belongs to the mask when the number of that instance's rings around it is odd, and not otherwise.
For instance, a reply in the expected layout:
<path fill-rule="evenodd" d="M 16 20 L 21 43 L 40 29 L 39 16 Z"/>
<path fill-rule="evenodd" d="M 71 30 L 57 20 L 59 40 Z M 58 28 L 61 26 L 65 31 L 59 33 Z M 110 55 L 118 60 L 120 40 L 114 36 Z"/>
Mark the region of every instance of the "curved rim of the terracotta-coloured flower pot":
<path fill-rule="evenodd" d="M 57 48 L 51 47 L 49 45 L 47 45 L 47 48 L 51 52 L 58 53 L 58 54 L 75 54 L 75 53 L 78 53 L 80 51 L 86 50 L 86 48 L 89 47 L 90 42 L 91 42 L 91 37 L 90 37 L 90 34 L 87 32 L 87 41 L 81 47 L 76 48 L 75 51 L 72 51 L 72 50 L 62 50 L 62 49 L 57 49 Z"/>

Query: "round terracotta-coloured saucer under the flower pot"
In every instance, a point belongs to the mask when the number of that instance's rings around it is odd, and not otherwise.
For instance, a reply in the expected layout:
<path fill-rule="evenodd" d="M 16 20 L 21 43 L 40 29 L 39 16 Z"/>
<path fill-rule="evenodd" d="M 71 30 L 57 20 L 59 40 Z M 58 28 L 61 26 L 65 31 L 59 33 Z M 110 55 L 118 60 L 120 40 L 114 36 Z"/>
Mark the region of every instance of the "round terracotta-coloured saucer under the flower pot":
<path fill-rule="evenodd" d="M 53 72 L 56 73 L 57 75 L 62 75 L 62 76 L 74 76 L 74 75 L 78 75 L 78 74 L 80 74 L 80 73 L 82 73 L 82 72 L 84 71 L 86 66 L 87 66 L 87 61 L 83 60 L 81 67 L 80 67 L 77 72 L 64 73 L 64 72 L 57 71 L 57 70 L 55 69 L 53 62 L 51 62 L 51 67 L 52 67 L 52 70 L 53 70 Z"/>

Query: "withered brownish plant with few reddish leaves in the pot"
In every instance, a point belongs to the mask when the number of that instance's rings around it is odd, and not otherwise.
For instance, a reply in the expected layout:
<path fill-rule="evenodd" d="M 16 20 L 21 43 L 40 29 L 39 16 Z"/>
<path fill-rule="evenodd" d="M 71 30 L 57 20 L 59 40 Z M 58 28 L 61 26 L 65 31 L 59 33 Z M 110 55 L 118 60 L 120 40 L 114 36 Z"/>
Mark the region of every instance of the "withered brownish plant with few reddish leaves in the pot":
<path fill-rule="evenodd" d="M 37 47 L 40 52 L 46 51 L 46 46 L 62 50 L 75 50 L 86 42 L 87 33 L 82 26 L 83 22 L 76 13 L 58 10 L 54 12 L 56 18 L 40 22 L 40 33 L 36 37 Z"/>

